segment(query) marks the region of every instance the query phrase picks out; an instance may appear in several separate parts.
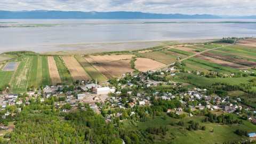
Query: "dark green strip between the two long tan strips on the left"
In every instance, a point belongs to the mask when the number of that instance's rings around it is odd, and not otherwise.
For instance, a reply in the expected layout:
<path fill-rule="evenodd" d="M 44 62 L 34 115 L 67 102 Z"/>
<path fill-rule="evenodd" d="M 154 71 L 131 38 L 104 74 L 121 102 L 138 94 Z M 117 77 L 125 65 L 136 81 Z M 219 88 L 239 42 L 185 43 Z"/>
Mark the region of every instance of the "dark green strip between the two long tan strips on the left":
<path fill-rule="evenodd" d="M 61 59 L 57 56 L 54 57 L 54 60 L 56 62 L 56 66 L 59 71 L 60 79 L 62 83 L 70 84 L 73 82 L 68 69 L 65 67 L 64 63 L 61 61 Z"/>

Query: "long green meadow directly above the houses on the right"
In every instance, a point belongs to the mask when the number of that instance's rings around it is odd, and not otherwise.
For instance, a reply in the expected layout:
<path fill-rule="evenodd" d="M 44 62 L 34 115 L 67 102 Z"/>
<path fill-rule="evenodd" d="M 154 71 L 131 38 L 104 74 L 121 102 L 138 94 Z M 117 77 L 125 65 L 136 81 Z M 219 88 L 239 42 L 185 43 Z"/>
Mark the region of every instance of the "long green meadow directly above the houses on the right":
<path fill-rule="evenodd" d="M 187 79 L 184 79 L 187 78 Z M 240 83 L 249 83 L 250 79 L 253 76 L 249 77 L 228 77 L 228 78 L 207 78 L 203 76 L 198 76 L 194 74 L 176 74 L 176 77 L 171 78 L 171 81 L 189 83 L 193 85 L 209 86 L 213 83 L 229 83 L 229 84 L 240 84 Z"/>

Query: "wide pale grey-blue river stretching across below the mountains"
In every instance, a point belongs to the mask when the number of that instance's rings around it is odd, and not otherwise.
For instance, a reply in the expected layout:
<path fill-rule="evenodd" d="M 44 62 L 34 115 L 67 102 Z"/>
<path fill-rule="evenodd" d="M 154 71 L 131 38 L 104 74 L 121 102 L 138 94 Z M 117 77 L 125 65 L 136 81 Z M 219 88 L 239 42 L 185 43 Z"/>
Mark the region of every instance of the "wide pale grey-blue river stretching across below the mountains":
<path fill-rule="evenodd" d="M 220 21 L 250 21 L 232 19 L 164 19 L 164 20 L 96 20 L 96 19 L 2 19 L 0 25 L 21 23 L 68 23 L 52 27 L 0 28 L 0 53 L 30 50 L 56 52 L 66 50 L 102 49 L 99 43 L 128 43 L 155 41 L 185 41 L 222 37 L 252 37 L 256 23 L 196 23 Z M 7 23 L 6 23 L 7 22 Z M 14 23 L 15 22 L 15 23 Z M 146 23 L 144 23 L 146 22 Z M 191 22 L 191 23 L 164 23 Z M 81 25 L 77 25 L 80 23 Z M 76 46 L 77 44 L 90 46 Z M 71 45 L 71 46 L 70 46 Z M 125 46 L 123 45 L 125 50 Z M 134 46 L 134 45 L 130 45 Z M 151 46 L 151 45 L 147 45 Z M 141 46 L 142 48 L 145 48 Z M 113 47 L 111 50 L 120 50 Z"/>

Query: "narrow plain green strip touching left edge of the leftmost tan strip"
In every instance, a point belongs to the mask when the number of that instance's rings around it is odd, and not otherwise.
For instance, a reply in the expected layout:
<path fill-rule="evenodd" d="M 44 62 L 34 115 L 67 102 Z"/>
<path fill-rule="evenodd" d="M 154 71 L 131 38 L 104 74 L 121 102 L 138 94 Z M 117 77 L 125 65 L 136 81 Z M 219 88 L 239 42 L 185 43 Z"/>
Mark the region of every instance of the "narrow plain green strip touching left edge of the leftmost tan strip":
<path fill-rule="evenodd" d="M 51 79 L 46 56 L 42 56 L 42 85 L 50 85 Z"/>

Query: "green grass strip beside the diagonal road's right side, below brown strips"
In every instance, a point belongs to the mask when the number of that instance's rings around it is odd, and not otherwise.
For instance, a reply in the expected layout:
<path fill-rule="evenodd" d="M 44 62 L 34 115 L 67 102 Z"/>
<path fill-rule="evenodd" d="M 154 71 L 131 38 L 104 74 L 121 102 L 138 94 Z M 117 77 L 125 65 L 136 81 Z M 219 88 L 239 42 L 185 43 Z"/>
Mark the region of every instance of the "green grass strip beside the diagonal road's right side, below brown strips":
<path fill-rule="evenodd" d="M 184 60 L 184 62 L 188 63 L 189 65 L 193 65 L 194 69 L 196 69 L 196 67 L 198 67 L 197 69 L 201 70 L 201 71 L 205 71 L 205 70 L 202 70 L 202 69 L 206 69 L 208 71 L 216 71 L 216 72 L 223 73 L 223 74 L 230 74 L 229 71 L 220 70 L 220 69 L 213 68 L 213 67 L 210 67 L 210 66 L 206 66 L 206 65 L 203 65 L 201 63 L 194 62 L 194 61 Z M 186 69 L 186 67 L 185 67 L 185 69 Z M 207 71 L 205 71 L 205 72 L 207 72 Z"/>

